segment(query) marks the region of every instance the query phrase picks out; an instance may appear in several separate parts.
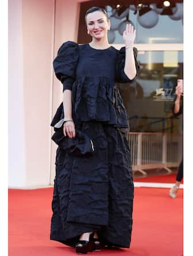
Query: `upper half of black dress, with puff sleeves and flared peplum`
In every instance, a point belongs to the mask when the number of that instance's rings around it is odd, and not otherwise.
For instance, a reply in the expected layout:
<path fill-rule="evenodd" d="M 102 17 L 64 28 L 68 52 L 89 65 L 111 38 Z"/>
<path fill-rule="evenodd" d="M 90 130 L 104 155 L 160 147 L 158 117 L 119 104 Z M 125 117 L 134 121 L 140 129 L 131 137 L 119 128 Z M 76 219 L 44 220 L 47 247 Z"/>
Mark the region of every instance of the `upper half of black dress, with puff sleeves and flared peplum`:
<path fill-rule="evenodd" d="M 138 72 L 137 49 L 134 48 L 135 66 Z M 115 127 L 128 128 L 128 115 L 116 82 L 129 83 L 124 73 L 125 47 L 105 50 L 93 49 L 89 44 L 78 46 L 74 42 L 63 43 L 54 60 L 56 77 L 63 83 L 63 90 L 72 90 L 73 120 L 76 123 L 97 120 Z M 64 116 L 60 114 L 54 121 Z M 52 120 L 52 125 L 55 125 Z"/>

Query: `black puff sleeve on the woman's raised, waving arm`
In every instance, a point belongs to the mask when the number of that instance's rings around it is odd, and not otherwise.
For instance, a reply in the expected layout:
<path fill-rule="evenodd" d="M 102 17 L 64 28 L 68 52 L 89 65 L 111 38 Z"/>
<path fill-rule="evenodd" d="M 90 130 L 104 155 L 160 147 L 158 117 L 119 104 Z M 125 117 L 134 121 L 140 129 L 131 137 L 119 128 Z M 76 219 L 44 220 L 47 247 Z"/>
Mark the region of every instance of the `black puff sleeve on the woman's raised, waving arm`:
<path fill-rule="evenodd" d="M 134 58 L 135 58 L 135 67 L 138 75 L 139 63 L 137 60 L 137 53 L 138 53 L 137 48 L 134 47 L 133 52 L 134 52 Z M 118 52 L 118 60 L 116 63 L 116 81 L 118 83 L 131 83 L 134 80 L 134 79 L 132 80 L 129 79 L 126 73 L 124 73 L 125 57 L 126 57 L 126 48 L 122 47 Z"/>

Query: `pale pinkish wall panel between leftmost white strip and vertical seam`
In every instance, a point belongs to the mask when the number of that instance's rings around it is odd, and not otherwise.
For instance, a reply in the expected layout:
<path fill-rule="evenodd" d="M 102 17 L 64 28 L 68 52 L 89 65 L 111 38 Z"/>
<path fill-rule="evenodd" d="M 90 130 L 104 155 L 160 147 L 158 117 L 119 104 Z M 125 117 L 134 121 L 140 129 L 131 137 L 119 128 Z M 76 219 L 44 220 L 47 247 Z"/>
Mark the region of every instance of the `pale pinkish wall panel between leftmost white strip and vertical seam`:
<path fill-rule="evenodd" d="M 28 186 L 50 184 L 54 0 L 23 0 L 25 152 Z"/>

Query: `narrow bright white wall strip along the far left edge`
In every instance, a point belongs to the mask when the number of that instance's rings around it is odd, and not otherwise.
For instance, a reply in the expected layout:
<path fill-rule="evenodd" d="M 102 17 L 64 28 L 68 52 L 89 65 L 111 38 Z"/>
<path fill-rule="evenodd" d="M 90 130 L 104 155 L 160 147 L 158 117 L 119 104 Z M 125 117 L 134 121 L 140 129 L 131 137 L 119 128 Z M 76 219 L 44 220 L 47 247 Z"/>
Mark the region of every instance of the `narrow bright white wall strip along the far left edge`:
<path fill-rule="evenodd" d="M 9 185 L 26 183 L 22 1 L 9 0 Z"/>

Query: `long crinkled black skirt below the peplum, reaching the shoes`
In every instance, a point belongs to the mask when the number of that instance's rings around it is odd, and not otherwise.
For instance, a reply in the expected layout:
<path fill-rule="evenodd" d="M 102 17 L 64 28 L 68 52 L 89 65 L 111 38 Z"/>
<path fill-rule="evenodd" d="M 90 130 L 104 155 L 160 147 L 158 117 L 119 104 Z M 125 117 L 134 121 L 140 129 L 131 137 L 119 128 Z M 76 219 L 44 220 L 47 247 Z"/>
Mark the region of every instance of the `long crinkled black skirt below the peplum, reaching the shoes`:
<path fill-rule="evenodd" d="M 74 247 L 82 233 L 97 231 L 104 244 L 130 247 L 134 185 L 126 135 L 96 121 L 78 129 L 94 153 L 57 149 L 50 239 Z"/>

